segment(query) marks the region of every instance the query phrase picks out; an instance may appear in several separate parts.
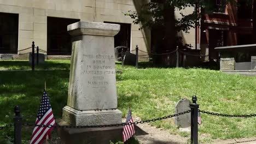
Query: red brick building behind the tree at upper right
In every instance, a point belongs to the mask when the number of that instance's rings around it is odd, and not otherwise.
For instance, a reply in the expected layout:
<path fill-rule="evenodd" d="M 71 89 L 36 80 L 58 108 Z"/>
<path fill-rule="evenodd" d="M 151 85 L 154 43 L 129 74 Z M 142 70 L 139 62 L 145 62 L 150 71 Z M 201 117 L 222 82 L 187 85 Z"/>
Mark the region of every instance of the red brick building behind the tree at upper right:
<path fill-rule="evenodd" d="M 209 55 L 203 61 L 216 61 L 214 47 L 253 44 L 252 4 L 238 0 L 237 6 L 223 5 L 221 0 L 211 1 L 213 14 L 203 15 L 197 43 L 202 54 Z"/>

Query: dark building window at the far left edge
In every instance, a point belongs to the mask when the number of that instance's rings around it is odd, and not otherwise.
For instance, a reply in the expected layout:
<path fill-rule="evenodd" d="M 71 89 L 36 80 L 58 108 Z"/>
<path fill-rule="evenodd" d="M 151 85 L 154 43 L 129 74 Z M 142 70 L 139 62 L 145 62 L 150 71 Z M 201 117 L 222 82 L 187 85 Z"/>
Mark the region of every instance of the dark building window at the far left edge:
<path fill-rule="evenodd" d="M 0 53 L 17 53 L 19 14 L 0 13 Z"/>

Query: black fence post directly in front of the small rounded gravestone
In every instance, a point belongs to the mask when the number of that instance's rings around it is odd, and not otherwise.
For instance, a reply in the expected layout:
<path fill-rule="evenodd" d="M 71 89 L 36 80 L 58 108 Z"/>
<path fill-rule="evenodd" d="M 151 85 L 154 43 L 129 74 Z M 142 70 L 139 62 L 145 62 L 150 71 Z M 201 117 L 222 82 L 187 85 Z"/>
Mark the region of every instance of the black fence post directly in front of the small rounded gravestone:
<path fill-rule="evenodd" d="M 198 109 L 199 105 L 196 104 L 196 96 L 192 97 L 193 104 L 190 105 L 191 109 L 191 144 L 198 144 Z"/>

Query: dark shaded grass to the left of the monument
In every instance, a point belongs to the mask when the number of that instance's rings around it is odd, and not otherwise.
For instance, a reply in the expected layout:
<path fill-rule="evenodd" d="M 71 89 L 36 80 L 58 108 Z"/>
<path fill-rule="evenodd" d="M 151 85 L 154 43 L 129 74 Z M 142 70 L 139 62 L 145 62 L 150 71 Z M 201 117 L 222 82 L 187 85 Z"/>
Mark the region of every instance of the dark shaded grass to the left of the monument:
<path fill-rule="evenodd" d="M 22 121 L 33 124 L 45 81 L 54 117 L 61 117 L 62 107 L 67 104 L 69 70 L 0 71 L 0 76 L 0 125 L 13 123 L 16 105 L 21 107 Z M 31 130 L 22 133 L 22 140 L 29 140 L 31 133 Z M 0 139 L 1 136 L 7 141 L 13 140 L 13 129 L 0 131 Z"/>

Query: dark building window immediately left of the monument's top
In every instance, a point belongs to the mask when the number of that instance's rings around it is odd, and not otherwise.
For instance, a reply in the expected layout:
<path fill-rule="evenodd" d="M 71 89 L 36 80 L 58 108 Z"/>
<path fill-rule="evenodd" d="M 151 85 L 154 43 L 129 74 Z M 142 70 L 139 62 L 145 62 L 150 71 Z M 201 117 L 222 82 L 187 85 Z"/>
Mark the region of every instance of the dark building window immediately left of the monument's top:
<path fill-rule="evenodd" d="M 47 54 L 71 55 L 71 35 L 67 32 L 67 26 L 78 22 L 78 19 L 66 19 L 59 17 L 47 17 Z"/>

